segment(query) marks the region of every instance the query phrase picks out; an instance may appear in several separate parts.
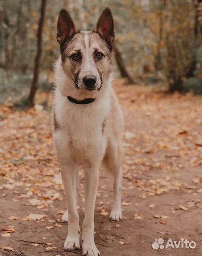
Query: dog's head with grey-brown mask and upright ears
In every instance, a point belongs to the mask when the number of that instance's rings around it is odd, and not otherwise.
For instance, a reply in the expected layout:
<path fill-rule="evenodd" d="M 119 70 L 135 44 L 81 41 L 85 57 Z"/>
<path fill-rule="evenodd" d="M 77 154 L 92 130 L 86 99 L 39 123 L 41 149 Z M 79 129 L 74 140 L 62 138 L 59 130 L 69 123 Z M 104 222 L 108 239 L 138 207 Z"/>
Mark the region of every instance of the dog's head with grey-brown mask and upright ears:
<path fill-rule="evenodd" d="M 114 42 L 112 12 L 106 8 L 94 30 L 79 31 L 70 14 L 62 9 L 57 23 L 61 65 L 69 86 L 82 91 L 100 91 L 111 73 Z"/>

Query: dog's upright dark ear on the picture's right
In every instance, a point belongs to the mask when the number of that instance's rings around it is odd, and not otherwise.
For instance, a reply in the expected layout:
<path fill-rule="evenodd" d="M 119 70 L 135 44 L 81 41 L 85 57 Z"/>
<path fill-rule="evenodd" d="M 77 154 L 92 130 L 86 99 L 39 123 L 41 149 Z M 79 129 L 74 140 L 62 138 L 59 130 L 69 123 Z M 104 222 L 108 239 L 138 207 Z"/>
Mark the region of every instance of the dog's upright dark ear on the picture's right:
<path fill-rule="evenodd" d="M 97 32 L 100 37 L 110 44 L 114 42 L 114 19 L 112 16 L 112 11 L 109 8 L 105 8 L 101 13 L 93 32 Z"/>

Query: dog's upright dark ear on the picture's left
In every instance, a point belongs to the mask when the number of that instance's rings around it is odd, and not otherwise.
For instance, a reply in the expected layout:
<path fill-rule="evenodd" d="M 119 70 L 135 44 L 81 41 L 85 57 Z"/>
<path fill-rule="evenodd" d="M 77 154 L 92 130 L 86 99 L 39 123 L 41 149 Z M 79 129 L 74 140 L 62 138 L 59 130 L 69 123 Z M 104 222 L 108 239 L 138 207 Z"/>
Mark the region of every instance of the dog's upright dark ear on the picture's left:
<path fill-rule="evenodd" d="M 61 9 L 57 23 L 57 41 L 62 45 L 66 40 L 70 40 L 79 30 L 68 11 Z"/>

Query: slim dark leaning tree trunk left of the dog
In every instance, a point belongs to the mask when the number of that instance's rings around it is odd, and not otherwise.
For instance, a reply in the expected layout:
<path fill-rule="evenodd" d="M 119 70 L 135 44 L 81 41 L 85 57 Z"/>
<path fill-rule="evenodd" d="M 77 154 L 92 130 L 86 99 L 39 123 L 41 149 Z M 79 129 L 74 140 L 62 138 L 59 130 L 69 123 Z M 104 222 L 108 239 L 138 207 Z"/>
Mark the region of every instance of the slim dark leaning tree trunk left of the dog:
<path fill-rule="evenodd" d="M 41 54 L 42 54 L 42 32 L 43 32 L 44 18 L 45 18 L 45 5 L 46 5 L 46 0 L 41 0 L 41 17 L 39 19 L 38 32 L 37 32 L 37 54 L 35 57 L 34 77 L 32 81 L 31 90 L 29 93 L 29 97 L 27 100 L 27 105 L 29 107 L 33 107 L 35 105 L 35 102 L 34 102 L 35 92 L 37 90 L 40 61 L 41 61 Z"/>

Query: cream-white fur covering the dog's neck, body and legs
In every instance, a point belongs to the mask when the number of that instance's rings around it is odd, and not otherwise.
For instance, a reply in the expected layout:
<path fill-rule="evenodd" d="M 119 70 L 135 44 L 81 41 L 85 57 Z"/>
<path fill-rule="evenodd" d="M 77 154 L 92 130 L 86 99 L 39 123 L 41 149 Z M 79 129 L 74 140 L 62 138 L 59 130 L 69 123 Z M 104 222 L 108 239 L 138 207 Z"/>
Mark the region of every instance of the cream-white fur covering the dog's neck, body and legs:
<path fill-rule="evenodd" d="M 85 38 L 88 43 L 88 38 Z M 103 81 L 100 91 L 79 91 L 56 63 L 56 91 L 54 112 L 59 128 L 53 131 L 54 144 L 61 164 L 61 175 L 68 202 L 63 220 L 69 222 L 64 249 L 79 248 L 79 214 L 77 212 L 78 173 L 80 165 L 85 171 L 85 219 L 83 222 L 83 255 L 98 256 L 94 242 L 94 209 L 99 180 L 99 168 L 106 156 L 109 169 L 114 173 L 114 204 L 110 215 L 122 219 L 121 211 L 121 137 L 123 115 L 112 89 L 112 78 Z M 96 101 L 78 105 L 68 101 L 70 95 L 78 100 L 88 97 Z M 90 95 L 90 96 L 89 96 Z M 105 132 L 103 132 L 103 122 Z"/>

